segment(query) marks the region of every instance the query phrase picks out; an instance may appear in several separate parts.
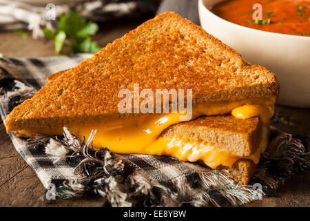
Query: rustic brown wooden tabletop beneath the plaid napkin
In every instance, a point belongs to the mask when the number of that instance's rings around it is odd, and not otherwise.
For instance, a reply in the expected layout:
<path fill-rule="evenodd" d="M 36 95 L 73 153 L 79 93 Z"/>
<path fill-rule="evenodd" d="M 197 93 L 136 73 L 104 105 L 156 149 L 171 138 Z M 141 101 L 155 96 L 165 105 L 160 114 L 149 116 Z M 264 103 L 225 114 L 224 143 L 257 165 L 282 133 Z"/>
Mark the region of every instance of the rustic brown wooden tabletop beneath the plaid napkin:
<path fill-rule="evenodd" d="M 145 19 L 103 23 L 94 36 L 99 46 L 123 36 Z M 6 57 L 54 56 L 54 44 L 46 39 L 23 39 L 12 32 L 0 32 L 0 52 Z M 276 106 L 279 121 L 273 125 L 287 133 L 310 135 L 310 109 Z M 25 163 L 0 123 L 0 206 L 104 206 L 103 198 L 57 199 L 51 204 L 43 201 L 45 189 L 34 171 Z M 257 200 L 245 206 L 310 206 L 310 173 L 294 177 L 272 198 Z"/>

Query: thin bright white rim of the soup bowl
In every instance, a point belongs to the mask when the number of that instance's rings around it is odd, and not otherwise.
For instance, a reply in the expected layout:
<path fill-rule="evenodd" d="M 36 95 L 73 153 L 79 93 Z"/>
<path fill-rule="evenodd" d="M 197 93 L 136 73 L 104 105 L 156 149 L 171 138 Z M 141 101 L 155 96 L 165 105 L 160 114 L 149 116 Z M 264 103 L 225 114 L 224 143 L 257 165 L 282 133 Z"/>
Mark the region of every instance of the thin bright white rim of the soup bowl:
<path fill-rule="evenodd" d="M 267 32 L 265 30 L 258 30 L 255 28 L 248 28 L 245 26 L 241 26 L 238 25 L 236 23 L 233 23 L 231 21 L 227 21 L 225 19 L 222 19 L 221 17 L 218 17 L 217 15 L 215 15 L 213 12 L 211 12 L 211 10 L 209 10 L 205 4 L 203 3 L 203 0 L 199 0 L 198 1 L 198 8 L 202 7 L 203 10 L 205 10 L 206 12 L 208 12 L 211 16 L 215 17 L 216 19 L 218 19 L 219 21 L 224 21 L 225 23 L 229 24 L 230 26 L 235 26 L 236 28 L 241 28 L 247 31 L 252 31 L 252 32 L 257 32 L 258 34 L 267 34 L 267 35 L 274 35 L 274 36 L 278 36 L 278 37 L 286 37 L 286 38 L 293 38 L 293 39 L 308 39 L 310 40 L 310 37 L 306 37 L 306 36 L 298 36 L 298 35 L 287 35 L 287 34 L 281 34 L 281 33 L 276 33 L 276 32 Z M 201 23 L 201 21 L 200 21 Z"/>

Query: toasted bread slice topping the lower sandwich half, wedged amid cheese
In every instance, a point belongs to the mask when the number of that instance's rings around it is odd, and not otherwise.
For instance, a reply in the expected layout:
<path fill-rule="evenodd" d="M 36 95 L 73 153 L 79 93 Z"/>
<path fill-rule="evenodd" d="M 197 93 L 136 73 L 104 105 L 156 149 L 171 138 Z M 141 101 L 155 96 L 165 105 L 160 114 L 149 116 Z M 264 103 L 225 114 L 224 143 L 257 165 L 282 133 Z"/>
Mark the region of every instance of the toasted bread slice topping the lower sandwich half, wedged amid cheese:
<path fill-rule="evenodd" d="M 215 146 L 218 151 L 239 157 L 253 154 L 260 144 L 260 117 L 237 119 L 231 115 L 199 117 L 189 122 L 169 126 L 161 137 L 188 137 Z"/>

